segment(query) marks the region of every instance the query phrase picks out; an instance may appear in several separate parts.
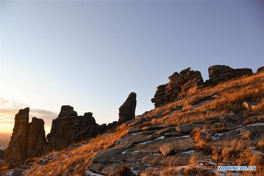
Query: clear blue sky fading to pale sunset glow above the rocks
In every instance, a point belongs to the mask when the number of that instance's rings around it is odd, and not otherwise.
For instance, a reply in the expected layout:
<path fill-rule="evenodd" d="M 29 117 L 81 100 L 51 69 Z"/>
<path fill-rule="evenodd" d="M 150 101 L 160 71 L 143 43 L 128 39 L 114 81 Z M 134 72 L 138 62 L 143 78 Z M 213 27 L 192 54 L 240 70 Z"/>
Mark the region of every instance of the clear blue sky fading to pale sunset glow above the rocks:
<path fill-rule="evenodd" d="M 257 68 L 263 1 L 0 1 L 0 132 L 14 115 L 51 128 L 62 105 L 98 124 L 118 120 L 137 94 L 136 115 L 154 109 L 158 85 L 187 67 Z"/>

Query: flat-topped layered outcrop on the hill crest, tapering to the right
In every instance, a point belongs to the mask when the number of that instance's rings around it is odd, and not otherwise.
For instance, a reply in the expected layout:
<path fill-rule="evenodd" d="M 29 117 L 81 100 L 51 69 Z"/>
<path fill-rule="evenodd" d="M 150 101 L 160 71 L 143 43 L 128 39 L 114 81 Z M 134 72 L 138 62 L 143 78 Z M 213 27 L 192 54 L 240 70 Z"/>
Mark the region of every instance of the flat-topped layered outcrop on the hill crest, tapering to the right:
<path fill-rule="evenodd" d="M 208 68 L 208 72 L 209 81 L 206 80 L 206 85 L 216 85 L 220 82 L 225 82 L 235 77 L 253 73 L 252 69 L 249 68 L 233 69 L 225 65 L 213 65 Z"/>

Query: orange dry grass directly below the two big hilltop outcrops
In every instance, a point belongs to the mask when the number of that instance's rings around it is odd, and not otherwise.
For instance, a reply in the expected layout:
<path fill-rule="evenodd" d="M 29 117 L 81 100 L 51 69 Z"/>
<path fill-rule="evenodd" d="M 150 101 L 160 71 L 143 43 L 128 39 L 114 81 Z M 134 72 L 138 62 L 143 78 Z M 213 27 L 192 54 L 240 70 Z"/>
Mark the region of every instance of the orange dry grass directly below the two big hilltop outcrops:
<path fill-rule="evenodd" d="M 220 98 L 218 100 L 204 103 L 190 111 L 194 105 L 204 101 L 204 97 L 215 92 L 219 92 Z M 206 87 L 189 97 L 157 107 L 139 118 L 154 117 L 144 125 L 165 124 L 175 126 L 182 123 L 195 123 L 233 113 L 238 108 L 242 109 L 242 103 L 245 100 L 258 102 L 258 106 L 254 110 L 247 111 L 248 114 L 264 113 L 264 72 L 234 78 L 214 87 Z M 183 106 L 182 111 L 169 114 L 171 109 L 179 106 Z M 159 116 L 163 117 L 157 118 Z"/>

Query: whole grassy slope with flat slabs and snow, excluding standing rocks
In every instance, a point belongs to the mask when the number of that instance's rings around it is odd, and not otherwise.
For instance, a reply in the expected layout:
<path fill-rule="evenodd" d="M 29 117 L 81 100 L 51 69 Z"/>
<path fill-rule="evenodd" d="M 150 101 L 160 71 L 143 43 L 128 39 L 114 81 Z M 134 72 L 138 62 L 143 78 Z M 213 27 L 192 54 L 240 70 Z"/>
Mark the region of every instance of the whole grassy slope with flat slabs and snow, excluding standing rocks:
<path fill-rule="evenodd" d="M 255 102 L 255 103 L 250 103 Z M 27 175 L 264 175 L 264 72 L 198 90 L 90 141 L 30 158 Z M 232 175 L 232 174 L 231 174 Z"/>

